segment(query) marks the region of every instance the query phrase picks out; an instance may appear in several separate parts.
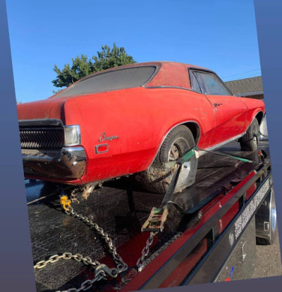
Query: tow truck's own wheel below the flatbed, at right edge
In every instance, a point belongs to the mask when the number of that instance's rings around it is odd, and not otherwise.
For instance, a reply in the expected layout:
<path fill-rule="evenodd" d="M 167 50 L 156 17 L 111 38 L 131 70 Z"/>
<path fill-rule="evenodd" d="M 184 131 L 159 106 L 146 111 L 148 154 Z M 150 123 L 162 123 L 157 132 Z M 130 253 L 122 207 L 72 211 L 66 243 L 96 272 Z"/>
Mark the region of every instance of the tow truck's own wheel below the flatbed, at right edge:
<path fill-rule="evenodd" d="M 257 243 L 273 244 L 278 234 L 274 190 L 271 189 L 256 214 Z"/>

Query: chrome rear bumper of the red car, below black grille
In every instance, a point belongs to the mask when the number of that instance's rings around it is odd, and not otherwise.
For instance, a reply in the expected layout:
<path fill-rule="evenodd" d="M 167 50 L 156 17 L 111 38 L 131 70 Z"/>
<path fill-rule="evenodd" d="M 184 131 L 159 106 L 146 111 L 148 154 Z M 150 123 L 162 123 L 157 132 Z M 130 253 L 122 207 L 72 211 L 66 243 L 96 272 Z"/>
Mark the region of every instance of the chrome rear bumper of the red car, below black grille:
<path fill-rule="evenodd" d="M 61 150 L 22 149 L 25 177 L 74 180 L 85 172 L 86 154 L 83 147 Z"/>

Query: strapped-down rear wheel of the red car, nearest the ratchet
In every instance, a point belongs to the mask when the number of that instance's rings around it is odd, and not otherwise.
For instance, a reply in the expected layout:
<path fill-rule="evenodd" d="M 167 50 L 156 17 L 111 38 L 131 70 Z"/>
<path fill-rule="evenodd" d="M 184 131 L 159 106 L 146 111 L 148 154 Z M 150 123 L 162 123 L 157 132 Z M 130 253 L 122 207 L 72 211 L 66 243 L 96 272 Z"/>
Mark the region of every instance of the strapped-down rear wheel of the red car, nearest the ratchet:
<path fill-rule="evenodd" d="M 192 132 L 188 127 L 180 125 L 168 133 L 154 163 L 167 163 L 177 160 L 193 147 L 195 147 L 195 140 Z M 173 170 L 166 167 L 156 167 L 154 163 L 148 170 L 136 174 L 135 178 L 147 191 L 165 193 L 171 182 Z M 194 184 L 196 172 L 197 158 L 194 155 L 187 163 L 183 164 L 174 192 L 183 191 L 183 189 Z"/>

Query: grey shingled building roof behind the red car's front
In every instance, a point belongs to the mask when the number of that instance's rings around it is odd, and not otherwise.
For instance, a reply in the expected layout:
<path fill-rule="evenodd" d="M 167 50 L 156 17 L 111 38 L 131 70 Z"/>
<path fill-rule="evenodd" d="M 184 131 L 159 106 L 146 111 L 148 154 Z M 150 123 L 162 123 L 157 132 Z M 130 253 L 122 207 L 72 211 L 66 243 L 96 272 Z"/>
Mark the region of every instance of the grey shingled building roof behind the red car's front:
<path fill-rule="evenodd" d="M 262 76 L 228 81 L 225 84 L 237 96 L 263 94 Z"/>

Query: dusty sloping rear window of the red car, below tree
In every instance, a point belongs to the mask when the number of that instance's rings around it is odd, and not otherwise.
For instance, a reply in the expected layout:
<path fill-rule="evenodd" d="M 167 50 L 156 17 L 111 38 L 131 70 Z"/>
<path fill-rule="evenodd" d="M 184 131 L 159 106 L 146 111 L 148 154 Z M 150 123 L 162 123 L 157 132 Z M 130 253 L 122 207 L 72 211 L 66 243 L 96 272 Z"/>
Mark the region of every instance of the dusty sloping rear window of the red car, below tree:
<path fill-rule="evenodd" d="M 104 72 L 74 84 L 72 87 L 61 92 L 61 94 L 58 94 L 55 98 L 140 87 L 149 81 L 156 69 L 155 66 L 142 66 Z"/>

